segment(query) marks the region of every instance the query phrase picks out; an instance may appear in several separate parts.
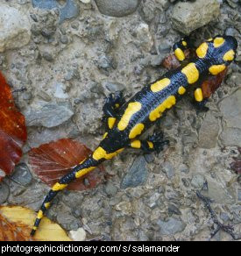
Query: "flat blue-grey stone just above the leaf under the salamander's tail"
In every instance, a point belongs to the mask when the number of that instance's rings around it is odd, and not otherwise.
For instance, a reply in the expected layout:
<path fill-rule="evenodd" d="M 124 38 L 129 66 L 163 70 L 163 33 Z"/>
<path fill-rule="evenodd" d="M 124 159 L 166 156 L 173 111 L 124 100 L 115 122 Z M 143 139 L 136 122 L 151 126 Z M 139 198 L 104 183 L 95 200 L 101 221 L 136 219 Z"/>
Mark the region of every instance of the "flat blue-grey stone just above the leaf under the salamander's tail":
<path fill-rule="evenodd" d="M 46 103 L 40 108 L 25 111 L 27 126 L 55 127 L 74 115 L 68 103 Z"/>

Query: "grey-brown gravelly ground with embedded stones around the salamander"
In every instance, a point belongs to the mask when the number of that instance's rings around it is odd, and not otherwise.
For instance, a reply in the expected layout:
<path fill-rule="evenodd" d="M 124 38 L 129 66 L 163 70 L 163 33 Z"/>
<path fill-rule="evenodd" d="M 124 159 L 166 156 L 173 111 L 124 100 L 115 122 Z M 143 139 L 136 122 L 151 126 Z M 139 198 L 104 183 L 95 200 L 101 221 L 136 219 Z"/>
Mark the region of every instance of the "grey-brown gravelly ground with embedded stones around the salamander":
<path fill-rule="evenodd" d="M 11 0 L 0 3 L 0 69 L 26 117 L 25 156 L 0 186 L 0 203 L 38 210 L 48 187 L 29 169 L 27 152 L 53 139 L 78 138 L 94 149 L 101 110 L 117 90 L 128 98 L 167 70 L 175 41 L 197 46 L 216 34 L 240 42 L 238 0 Z M 240 3 L 239 3 L 240 4 Z M 241 179 L 230 169 L 241 146 L 240 46 L 223 85 L 196 115 L 188 99 L 157 129 L 163 152 L 127 150 L 106 162 L 112 177 L 84 192 L 64 191 L 47 216 L 79 239 L 231 240 L 196 196 L 213 200 L 223 224 L 241 233 Z"/>

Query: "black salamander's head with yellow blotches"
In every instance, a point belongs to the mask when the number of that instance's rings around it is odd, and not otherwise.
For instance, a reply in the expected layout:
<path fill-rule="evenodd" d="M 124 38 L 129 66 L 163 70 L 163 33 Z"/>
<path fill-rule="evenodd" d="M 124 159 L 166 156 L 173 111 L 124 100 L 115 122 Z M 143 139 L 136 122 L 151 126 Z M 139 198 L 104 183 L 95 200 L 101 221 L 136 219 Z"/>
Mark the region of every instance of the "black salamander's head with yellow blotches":
<path fill-rule="evenodd" d="M 218 66 L 218 70 L 214 72 L 218 74 L 235 59 L 236 51 L 237 39 L 231 36 L 216 36 L 202 43 L 196 49 L 196 54 L 199 58 L 208 60 L 211 66 Z"/>

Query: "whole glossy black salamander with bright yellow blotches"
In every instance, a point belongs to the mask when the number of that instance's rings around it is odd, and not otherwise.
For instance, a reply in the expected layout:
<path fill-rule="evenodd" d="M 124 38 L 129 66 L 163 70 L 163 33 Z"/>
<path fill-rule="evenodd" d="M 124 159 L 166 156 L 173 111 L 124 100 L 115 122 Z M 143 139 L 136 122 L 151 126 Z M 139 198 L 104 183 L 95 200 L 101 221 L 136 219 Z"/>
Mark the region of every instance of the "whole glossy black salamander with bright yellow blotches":
<path fill-rule="evenodd" d="M 188 48 L 188 41 L 181 39 L 174 45 L 174 53 L 178 60 L 185 61 L 184 50 Z M 107 122 L 107 131 L 96 150 L 73 167 L 70 173 L 63 176 L 53 185 L 49 191 L 35 220 L 31 234 L 37 230 L 40 220 L 50 207 L 54 196 L 67 185 L 88 174 L 104 160 L 110 160 L 124 148 L 140 148 L 145 152 L 160 151 L 167 143 L 159 134 L 153 134 L 148 139 L 137 139 L 162 114 L 172 108 L 181 99 L 187 90 L 194 91 L 196 103 L 203 103 L 201 82 L 208 75 L 218 75 L 230 62 L 235 59 L 237 40 L 231 36 L 216 36 L 203 42 L 195 51 L 196 57 L 188 60 L 188 64 L 182 65 L 174 71 L 167 72 L 141 89 L 128 102 L 124 102 L 121 94 L 110 96 L 103 106 L 104 117 Z"/>

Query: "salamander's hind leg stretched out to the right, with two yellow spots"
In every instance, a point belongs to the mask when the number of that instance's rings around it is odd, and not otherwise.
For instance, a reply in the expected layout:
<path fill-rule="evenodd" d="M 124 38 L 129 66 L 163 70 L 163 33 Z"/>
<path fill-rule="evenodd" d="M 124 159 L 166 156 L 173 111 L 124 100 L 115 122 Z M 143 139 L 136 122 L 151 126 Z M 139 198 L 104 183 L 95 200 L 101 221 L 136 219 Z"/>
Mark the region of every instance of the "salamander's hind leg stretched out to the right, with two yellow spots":
<path fill-rule="evenodd" d="M 153 151 L 160 153 L 165 145 L 169 144 L 169 140 L 163 139 L 163 133 L 153 133 L 146 140 L 134 139 L 131 140 L 129 146 L 131 148 L 139 148 L 144 151 L 144 153 L 151 153 Z"/>

